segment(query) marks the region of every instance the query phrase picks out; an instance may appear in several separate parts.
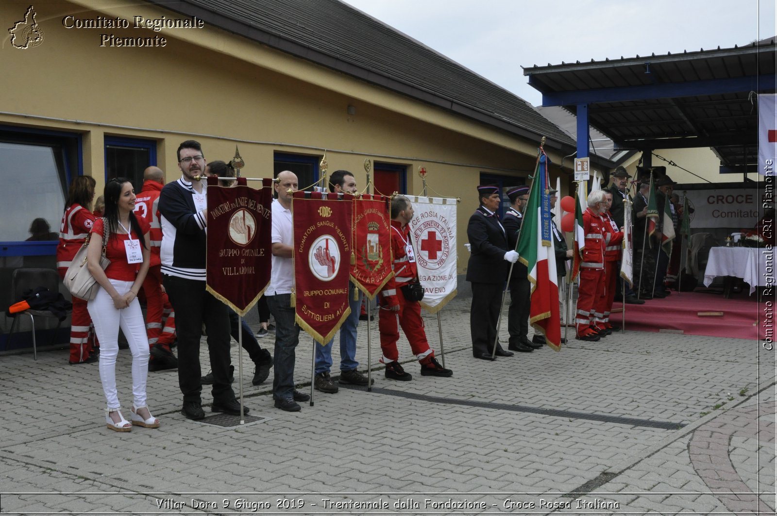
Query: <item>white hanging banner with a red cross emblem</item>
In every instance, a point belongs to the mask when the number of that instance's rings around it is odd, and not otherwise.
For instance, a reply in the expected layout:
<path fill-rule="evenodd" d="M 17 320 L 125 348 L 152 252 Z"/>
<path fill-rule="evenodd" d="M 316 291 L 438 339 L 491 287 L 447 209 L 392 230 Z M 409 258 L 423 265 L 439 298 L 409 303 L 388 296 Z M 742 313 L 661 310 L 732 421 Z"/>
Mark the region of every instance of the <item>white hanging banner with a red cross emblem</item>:
<path fill-rule="evenodd" d="M 421 306 L 439 312 L 456 296 L 456 200 L 408 197 L 415 216 L 410 224 L 418 277 L 423 285 Z"/>

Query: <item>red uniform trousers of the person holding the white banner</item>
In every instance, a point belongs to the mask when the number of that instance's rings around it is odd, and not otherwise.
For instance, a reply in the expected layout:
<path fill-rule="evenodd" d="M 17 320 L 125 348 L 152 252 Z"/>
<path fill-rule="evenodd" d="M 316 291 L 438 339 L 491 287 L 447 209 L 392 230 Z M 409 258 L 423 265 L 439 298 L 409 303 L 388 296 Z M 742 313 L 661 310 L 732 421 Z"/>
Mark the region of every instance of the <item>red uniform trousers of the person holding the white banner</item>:
<path fill-rule="evenodd" d="M 423 363 L 424 358 L 434 357 L 434 351 L 430 349 L 427 333 L 423 329 L 421 305 L 418 302 L 406 302 L 400 288 L 396 289 L 396 299 L 399 301 L 399 312 L 392 312 L 385 304 L 380 309 L 378 329 L 381 333 L 381 349 L 383 350 L 381 362 L 388 364 L 399 359 L 396 343 L 399 340 L 399 326 L 402 326 L 402 331 L 405 332 L 410 343 L 410 349 L 413 350 L 416 358 Z M 399 326 L 397 319 L 399 319 Z"/>

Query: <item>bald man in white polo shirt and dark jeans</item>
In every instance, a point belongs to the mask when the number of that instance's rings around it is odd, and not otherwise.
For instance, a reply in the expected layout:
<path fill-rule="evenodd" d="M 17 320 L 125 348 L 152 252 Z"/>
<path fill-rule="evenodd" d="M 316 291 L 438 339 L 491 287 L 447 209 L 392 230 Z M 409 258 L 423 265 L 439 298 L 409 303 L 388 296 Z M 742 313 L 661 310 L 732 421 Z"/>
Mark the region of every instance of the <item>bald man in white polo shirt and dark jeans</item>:
<path fill-rule="evenodd" d="M 310 396 L 294 390 L 294 349 L 299 343 L 299 326 L 294 322 L 291 306 L 294 288 L 291 192 L 298 190 L 297 176 L 288 170 L 278 173 L 274 189 L 278 198 L 273 201 L 273 269 L 270 285 L 264 291 L 267 306 L 275 317 L 273 399 L 280 410 L 298 412 L 301 407 L 297 402 L 308 401 Z"/>

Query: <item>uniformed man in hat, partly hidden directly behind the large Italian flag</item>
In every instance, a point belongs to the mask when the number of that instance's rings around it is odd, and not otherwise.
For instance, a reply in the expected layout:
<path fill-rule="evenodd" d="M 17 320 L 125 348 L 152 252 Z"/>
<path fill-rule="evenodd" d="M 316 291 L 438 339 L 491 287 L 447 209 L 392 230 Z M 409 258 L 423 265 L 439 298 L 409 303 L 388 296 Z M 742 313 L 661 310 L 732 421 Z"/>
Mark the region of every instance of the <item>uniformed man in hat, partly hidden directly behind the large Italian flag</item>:
<path fill-rule="evenodd" d="M 521 222 L 524 220 L 526 201 L 529 198 L 529 187 L 521 185 L 507 190 L 510 198 L 510 208 L 502 218 L 502 225 L 507 232 L 507 246 L 515 249 L 518 233 L 521 232 Z M 540 343 L 528 340 L 529 310 L 531 309 L 531 284 L 528 280 L 526 266 L 517 262 L 510 274 L 510 309 L 507 311 L 507 332 L 510 333 L 510 351 L 531 353 L 535 348 L 542 347 Z"/>

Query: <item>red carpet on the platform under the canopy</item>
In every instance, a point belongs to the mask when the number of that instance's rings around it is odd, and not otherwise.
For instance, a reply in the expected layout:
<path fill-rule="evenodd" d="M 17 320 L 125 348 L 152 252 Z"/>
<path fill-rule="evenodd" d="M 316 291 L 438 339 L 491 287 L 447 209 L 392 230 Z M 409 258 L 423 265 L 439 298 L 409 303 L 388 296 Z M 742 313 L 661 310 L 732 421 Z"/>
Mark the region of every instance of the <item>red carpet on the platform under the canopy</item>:
<path fill-rule="evenodd" d="M 730 299 L 713 290 L 676 292 L 664 299 L 650 299 L 644 305 L 625 305 L 625 329 L 645 332 L 677 331 L 687 335 L 726 336 L 736 339 L 775 338 L 774 319 L 766 319 L 765 302 L 747 291 Z M 620 326 L 622 304 L 616 302 L 610 323 Z M 699 312 L 723 312 L 723 316 L 699 316 Z M 760 318 L 760 319 L 759 319 Z M 771 332 L 771 333 L 769 333 Z M 760 335 L 759 335 L 760 333 Z"/>

